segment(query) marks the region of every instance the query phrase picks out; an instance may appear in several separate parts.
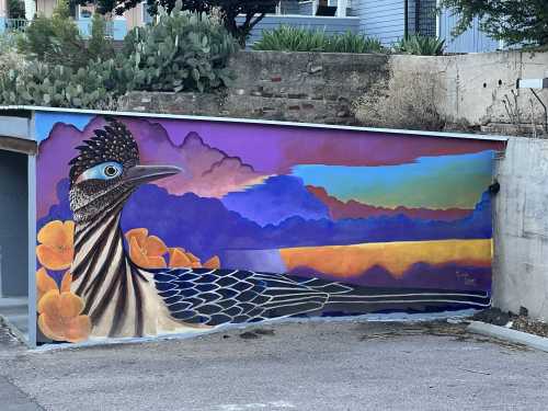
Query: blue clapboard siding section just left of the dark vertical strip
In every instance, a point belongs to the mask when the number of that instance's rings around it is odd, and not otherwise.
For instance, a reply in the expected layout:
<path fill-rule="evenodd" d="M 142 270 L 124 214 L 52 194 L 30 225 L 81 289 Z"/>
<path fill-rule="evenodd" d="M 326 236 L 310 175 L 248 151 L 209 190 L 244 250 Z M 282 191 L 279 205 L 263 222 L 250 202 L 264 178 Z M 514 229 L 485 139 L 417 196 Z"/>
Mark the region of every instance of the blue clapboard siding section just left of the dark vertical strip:
<path fill-rule="evenodd" d="M 361 33 L 377 37 L 389 46 L 403 37 L 403 0 L 355 0 L 352 14 L 359 18 Z"/>

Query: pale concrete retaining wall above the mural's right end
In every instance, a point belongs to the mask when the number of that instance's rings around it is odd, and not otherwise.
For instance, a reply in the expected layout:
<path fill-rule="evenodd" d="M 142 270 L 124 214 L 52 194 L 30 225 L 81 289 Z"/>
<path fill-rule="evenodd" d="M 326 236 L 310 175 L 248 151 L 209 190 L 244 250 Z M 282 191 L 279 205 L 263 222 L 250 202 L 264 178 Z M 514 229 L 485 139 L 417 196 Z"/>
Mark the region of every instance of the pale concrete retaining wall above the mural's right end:
<path fill-rule="evenodd" d="M 441 57 L 391 56 L 391 78 L 418 76 L 431 80 L 432 95 L 437 111 L 450 127 L 469 129 L 493 123 L 513 123 L 511 113 L 518 111 L 521 123 L 541 124 L 545 113 L 530 90 L 516 90 L 520 78 L 543 78 L 548 76 L 548 53 L 486 53 Z M 386 85 L 387 93 L 406 92 L 406 82 Z M 429 85 L 429 84 L 426 84 Z M 513 92 L 517 96 L 517 110 Z M 548 90 L 539 91 L 548 104 Z M 511 105 L 506 101 L 511 101 Z M 532 106 L 533 102 L 533 106 Z M 379 104 L 384 104 L 384 100 Z"/>

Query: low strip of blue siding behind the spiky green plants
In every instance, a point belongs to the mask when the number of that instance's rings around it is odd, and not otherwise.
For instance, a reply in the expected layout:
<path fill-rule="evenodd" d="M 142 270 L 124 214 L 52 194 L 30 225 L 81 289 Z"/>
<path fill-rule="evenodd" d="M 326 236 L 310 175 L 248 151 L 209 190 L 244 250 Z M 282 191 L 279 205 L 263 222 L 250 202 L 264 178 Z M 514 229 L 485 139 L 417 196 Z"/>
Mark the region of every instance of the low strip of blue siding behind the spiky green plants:
<path fill-rule="evenodd" d="M 243 18 L 238 18 L 240 22 Z M 248 44 L 253 44 L 262 36 L 262 31 L 274 30 L 281 24 L 305 27 L 310 30 L 321 30 L 326 33 L 344 33 L 349 30 L 357 33 L 359 28 L 359 20 L 356 18 L 319 18 L 312 15 L 266 15 L 260 21 L 251 32 Z"/>

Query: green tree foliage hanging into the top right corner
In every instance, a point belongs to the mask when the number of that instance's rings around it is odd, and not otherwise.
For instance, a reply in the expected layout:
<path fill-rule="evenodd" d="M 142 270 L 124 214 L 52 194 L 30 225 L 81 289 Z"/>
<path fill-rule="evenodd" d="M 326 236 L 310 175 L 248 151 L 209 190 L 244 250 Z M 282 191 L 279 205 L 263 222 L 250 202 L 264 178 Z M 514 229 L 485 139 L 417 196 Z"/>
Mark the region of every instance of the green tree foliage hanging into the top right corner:
<path fill-rule="evenodd" d="M 479 18 L 481 30 L 495 39 L 510 45 L 548 45 L 547 0 L 442 0 L 442 5 L 459 18 L 454 35 Z"/>

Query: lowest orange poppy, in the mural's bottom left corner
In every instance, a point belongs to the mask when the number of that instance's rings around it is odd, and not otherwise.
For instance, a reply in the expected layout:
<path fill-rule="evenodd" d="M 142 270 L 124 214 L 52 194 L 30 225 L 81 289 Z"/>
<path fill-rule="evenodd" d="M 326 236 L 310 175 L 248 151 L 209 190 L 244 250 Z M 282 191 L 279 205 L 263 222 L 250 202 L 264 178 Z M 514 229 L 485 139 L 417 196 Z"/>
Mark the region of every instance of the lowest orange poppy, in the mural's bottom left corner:
<path fill-rule="evenodd" d="M 82 316 L 83 300 L 76 294 L 50 289 L 38 302 L 38 327 L 55 341 L 80 342 L 91 333 L 91 321 Z"/>

